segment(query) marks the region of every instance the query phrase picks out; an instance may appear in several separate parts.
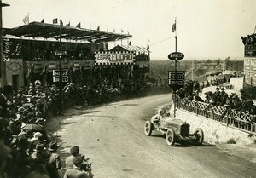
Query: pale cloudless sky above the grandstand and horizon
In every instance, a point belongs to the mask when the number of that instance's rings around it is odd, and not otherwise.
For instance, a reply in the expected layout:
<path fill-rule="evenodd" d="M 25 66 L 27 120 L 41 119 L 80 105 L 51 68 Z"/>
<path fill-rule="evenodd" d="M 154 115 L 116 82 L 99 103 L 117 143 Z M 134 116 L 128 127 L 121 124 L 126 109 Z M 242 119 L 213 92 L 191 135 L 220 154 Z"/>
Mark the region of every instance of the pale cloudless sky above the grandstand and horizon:
<path fill-rule="evenodd" d="M 241 36 L 253 34 L 255 0 L 2 0 L 3 27 L 29 21 L 130 33 L 132 45 L 150 47 L 151 60 L 168 60 L 175 51 L 172 24 L 177 20 L 177 51 L 185 60 L 242 59 Z M 128 45 L 130 40 L 123 40 Z M 113 43 L 109 45 L 113 46 Z"/>

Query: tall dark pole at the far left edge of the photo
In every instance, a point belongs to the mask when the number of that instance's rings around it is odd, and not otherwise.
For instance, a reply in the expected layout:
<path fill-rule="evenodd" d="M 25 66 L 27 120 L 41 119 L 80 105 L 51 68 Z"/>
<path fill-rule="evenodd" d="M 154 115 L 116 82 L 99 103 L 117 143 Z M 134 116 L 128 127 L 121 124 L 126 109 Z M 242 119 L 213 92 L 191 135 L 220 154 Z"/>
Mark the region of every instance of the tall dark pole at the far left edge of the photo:
<path fill-rule="evenodd" d="M 0 0 L 0 69 L 1 69 L 1 83 L 0 87 L 7 84 L 6 78 L 6 60 L 3 58 L 3 18 L 2 18 L 2 8 L 9 6 L 7 3 L 2 3 Z"/>

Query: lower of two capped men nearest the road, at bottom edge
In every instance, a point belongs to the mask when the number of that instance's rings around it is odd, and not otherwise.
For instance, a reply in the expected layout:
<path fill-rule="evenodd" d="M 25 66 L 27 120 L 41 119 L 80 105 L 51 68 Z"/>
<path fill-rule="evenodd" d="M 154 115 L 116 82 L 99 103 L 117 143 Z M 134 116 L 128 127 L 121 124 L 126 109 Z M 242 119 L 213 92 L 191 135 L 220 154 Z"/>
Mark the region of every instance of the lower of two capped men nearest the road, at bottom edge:
<path fill-rule="evenodd" d="M 84 156 L 79 155 L 75 158 L 73 158 L 73 169 L 67 169 L 65 175 L 63 178 L 87 178 L 87 177 L 93 177 L 90 175 L 87 175 L 86 172 L 81 169 L 81 166 L 84 161 Z"/>

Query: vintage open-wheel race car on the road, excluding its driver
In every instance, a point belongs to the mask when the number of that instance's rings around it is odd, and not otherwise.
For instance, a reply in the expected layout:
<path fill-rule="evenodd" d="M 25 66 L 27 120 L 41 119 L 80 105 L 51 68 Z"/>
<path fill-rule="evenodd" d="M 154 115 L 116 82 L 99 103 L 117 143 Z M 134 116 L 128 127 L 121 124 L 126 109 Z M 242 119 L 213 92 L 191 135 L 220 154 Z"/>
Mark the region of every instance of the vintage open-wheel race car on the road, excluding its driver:
<path fill-rule="evenodd" d="M 160 131 L 166 135 L 166 143 L 173 146 L 175 142 L 185 140 L 193 141 L 196 145 L 201 145 L 204 140 L 202 129 L 198 128 L 195 133 L 189 134 L 190 125 L 177 118 L 161 118 L 159 123 L 147 121 L 144 125 L 145 135 L 150 136 L 153 130 Z"/>

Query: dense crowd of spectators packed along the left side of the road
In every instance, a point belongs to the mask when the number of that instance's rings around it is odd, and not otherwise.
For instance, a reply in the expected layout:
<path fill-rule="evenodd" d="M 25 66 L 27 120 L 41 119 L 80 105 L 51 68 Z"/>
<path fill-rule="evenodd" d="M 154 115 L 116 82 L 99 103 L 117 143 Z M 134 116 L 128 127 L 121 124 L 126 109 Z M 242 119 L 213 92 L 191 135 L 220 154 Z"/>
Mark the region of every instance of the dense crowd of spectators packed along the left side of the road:
<path fill-rule="evenodd" d="M 58 177 L 57 143 L 44 129 L 52 116 L 71 106 L 95 106 L 158 91 L 169 91 L 161 78 L 90 78 L 67 83 L 63 89 L 31 83 L 16 92 L 4 86 L 0 89 L 0 178 Z"/>

